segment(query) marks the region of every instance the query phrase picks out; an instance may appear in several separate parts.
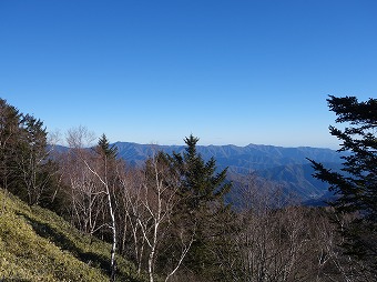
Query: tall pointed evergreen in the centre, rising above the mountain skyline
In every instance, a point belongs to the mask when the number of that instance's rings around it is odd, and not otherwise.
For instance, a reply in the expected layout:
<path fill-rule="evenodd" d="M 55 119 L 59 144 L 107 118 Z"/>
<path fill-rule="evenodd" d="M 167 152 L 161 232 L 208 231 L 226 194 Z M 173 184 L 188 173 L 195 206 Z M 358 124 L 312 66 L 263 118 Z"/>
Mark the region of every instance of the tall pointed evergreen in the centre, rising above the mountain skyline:
<path fill-rule="evenodd" d="M 224 203 L 224 195 L 230 192 L 232 183 L 226 182 L 226 169 L 216 172 L 214 158 L 203 160 L 196 151 L 197 142 L 198 139 L 191 134 L 185 139 L 185 152 L 172 157 L 182 180 L 176 221 L 195 234 L 185 259 L 186 268 L 203 279 L 213 279 L 220 273 L 216 250 L 223 248 L 230 221 L 230 207 Z"/>

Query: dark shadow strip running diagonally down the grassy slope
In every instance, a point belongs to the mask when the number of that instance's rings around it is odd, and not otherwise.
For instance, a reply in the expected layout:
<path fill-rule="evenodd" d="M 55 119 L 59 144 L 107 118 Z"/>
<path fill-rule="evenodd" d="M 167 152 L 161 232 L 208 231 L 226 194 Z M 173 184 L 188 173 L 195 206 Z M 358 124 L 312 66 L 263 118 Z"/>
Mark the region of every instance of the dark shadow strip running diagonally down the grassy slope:
<path fill-rule="evenodd" d="M 35 231 L 35 233 L 42 238 L 49 239 L 55 245 L 58 245 L 63 251 L 69 251 L 72 253 L 73 256 L 78 258 L 80 261 L 93 266 L 102 269 L 108 275 L 110 275 L 110 258 L 105 258 L 103 255 L 93 253 L 93 252 L 85 252 L 77 246 L 74 241 L 70 240 L 65 234 L 58 231 L 57 229 L 50 226 L 48 223 L 43 223 L 31 219 L 27 214 L 19 213 L 19 215 L 24 216 L 28 220 Z M 110 253 L 109 253 L 110 256 Z M 128 276 L 125 273 L 118 273 L 118 279 L 126 280 L 126 281 L 136 281 L 133 278 Z M 1 280 L 8 281 L 8 280 Z"/>

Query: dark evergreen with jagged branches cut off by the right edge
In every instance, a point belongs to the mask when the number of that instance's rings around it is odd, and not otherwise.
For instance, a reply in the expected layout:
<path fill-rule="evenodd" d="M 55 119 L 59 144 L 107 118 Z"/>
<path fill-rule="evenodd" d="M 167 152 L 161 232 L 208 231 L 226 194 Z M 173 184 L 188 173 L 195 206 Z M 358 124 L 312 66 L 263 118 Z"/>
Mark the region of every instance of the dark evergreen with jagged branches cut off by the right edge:
<path fill-rule="evenodd" d="M 349 254 L 358 258 L 376 275 L 377 270 L 377 99 L 359 102 L 356 97 L 327 99 L 343 130 L 329 127 L 342 141 L 343 172 L 334 172 L 313 160 L 314 177 L 330 184 L 337 198 L 330 204 L 339 214 L 355 216 L 343 229 Z"/>

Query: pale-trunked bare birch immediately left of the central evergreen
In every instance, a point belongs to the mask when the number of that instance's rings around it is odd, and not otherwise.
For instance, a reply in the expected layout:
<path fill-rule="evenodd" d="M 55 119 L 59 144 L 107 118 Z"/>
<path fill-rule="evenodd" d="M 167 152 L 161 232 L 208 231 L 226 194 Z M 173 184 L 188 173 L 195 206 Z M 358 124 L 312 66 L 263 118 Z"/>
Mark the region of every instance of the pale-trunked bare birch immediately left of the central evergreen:
<path fill-rule="evenodd" d="M 128 201 L 128 222 L 134 239 L 137 269 L 141 270 L 145 255 L 149 279 L 153 282 L 159 246 L 172 228 L 173 208 L 180 201 L 177 194 L 180 180 L 162 153 L 149 159 L 145 169 L 139 173 L 141 181 L 134 181 L 135 187 L 130 187 L 130 182 L 125 180 L 122 184 Z M 176 273 L 194 240 L 194 234 L 186 236 L 183 231 L 179 236 L 180 254 L 175 256 L 174 265 L 166 272 L 165 281 Z"/>

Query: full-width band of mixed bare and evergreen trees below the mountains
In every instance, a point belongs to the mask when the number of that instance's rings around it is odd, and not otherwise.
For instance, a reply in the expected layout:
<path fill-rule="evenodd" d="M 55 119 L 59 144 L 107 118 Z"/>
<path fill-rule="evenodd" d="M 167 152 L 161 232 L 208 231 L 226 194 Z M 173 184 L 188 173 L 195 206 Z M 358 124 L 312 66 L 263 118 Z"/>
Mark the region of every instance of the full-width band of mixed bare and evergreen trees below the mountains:
<path fill-rule="evenodd" d="M 339 122 L 350 120 L 347 111 L 369 104 L 370 114 L 357 108 L 358 120 L 351 122 L 376 125 L 375 100 L 336 99 L 328 102 Z M 95 138 L 83 127 L 67 132 L 67 150 L 54 150 L 41 120 L 0 99 L 0 183 L 30 205 L 49 208 L 84 234 L 110 242 L 111 281 L 119 255 L 151 282 L 375 281 L 376 139 L 373 127 L 361 128 L 368 131 L 363 152 L 361 141 L 357 151 L 350 147 L 351 134 L 363 131 L 333 128 L 332 133 L 347 141 L 344 150 L 355 151 L 355 159 L 365 158 L 369 171 L 356 171 L 359 163 L 351 157 L 345 162 L 348 174 L 332 174 L 313 161 L 315 175 L 340 197 L 330 207 L 308 208 L 256 174 L 231 181 L 226 170 L 216 170 L 215 159 L 202 158 L 192 134 L 183 153 L 155 151 L 135 168 L 118 157 L 105 134 L 93 145 Z M 343 191 L 345 181 L 357 187 Z M 351 191 L 360 188 L 359 209 L 351 209 Z"/>

